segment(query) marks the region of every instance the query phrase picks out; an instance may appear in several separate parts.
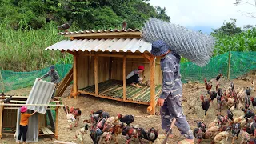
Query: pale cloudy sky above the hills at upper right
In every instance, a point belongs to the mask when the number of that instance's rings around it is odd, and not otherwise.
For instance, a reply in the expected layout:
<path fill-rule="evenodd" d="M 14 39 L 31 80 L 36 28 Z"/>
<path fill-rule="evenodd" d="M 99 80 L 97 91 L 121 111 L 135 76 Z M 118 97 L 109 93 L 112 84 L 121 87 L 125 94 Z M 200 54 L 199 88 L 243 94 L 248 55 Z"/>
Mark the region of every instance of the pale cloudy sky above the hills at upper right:
<path fill-rule="evenodd" d="M 244 0 L 255 3 L 254 0 Z M 256 7 L 242 3 L 234 6 L 235 0 L 150 0 L 153 6 L 166 7 L 166 14 L 170 22 L 186 26 L 192 30 L 202 30 L 210 33 L 212 28 L 223 25 L 225 20 L 237 19 L 237 26 L 247 24 L 256 25 L 256 18 L 245 16 L 253 12 L 256 16 Z"/>

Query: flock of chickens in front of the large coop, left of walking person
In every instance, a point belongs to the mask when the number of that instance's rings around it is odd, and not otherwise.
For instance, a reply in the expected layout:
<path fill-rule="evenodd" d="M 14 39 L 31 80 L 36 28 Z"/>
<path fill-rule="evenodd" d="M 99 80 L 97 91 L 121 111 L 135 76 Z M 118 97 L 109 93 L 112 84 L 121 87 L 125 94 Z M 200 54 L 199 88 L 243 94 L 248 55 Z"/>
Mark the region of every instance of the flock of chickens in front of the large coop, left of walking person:
<path fill-rule="evenodd" d="M 110 143 L 115 138 L 115 143 L 118 143 L 118 135 L 122 134 L 126 138 L 126 144 L 129 144 L 131 138 L 138 138 L 140 143 L 142 139 L 153 143 L 158 138 L 158 130 L 152 127 L 150 130 L 144 130 L 141 126 L 130 126 L 134 122 L 133 115 L 118 114 L 115 118 L 103 110 L 92 111 L 89 119 L 83 121 L 85 130 L 90 131 L 90 138 L 94 144 Z"/>

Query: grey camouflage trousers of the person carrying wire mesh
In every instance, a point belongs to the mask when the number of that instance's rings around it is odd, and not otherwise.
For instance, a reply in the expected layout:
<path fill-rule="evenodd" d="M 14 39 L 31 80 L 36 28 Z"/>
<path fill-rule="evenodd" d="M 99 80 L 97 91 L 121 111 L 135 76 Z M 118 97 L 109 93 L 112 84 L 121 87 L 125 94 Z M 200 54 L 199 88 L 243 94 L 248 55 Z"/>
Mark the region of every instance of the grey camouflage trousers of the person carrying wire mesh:
<path fill-rule="evenodd" d="M 176 118 L 175 126 L 178 127 L 181 134 L 188 139 L 194 139 L 190 125 L 183 114 L 181 98 L 182 97 L 180 96 L 168 96 L 163 106 L 161 106 L 160 114 L 162 119 L 162 129 L 166 132 L 170 130 L 170 123 L 173 118 Z"/>

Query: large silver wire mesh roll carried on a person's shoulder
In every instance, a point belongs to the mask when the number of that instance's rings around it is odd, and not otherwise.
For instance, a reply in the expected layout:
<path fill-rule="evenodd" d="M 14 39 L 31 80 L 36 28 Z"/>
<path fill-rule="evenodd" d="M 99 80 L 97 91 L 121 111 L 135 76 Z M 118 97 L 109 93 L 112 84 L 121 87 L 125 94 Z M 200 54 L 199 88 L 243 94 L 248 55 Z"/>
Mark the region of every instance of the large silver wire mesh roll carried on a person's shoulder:
<path fill-rule="evenodd" d="M 212 36 L 158 18 L 150 18 L 145 23 L 142 38 L 147 42 L 162 40 L 170 46 L 170 50 L 201 67 L 206 66 L 214 51 Z"/>

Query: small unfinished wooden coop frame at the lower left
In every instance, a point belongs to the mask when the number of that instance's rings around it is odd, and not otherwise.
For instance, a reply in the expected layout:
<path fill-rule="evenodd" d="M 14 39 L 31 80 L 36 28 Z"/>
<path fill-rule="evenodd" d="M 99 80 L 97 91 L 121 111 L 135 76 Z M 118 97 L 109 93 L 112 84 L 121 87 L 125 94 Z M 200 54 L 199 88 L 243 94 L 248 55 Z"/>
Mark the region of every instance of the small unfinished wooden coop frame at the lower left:
<path fill-rule="evenodd" d="M 2 96 L 2 98 L 10 98 L 10 96 Z M 8 103 L 0 102 L 0 138 L 2 138 L 3 135 L 5 136 L 14 136 L 16 135 L 16 138 L 18 138 L 17 133 L 17 126 L 19 125 L 19 115 L 20 112 L 18 111 L 21 106 L 41 106 L 38 104 L 26 104 L 27 96 L 12 96 L 12 100 Z M 29 128 L 27 132 L 26 140 L 30 141 L 38 141 L 38 138 L 34 137 L 36 136 L 54 136 L 58 139 L 58 108 L 60 106 L 60 101 L 53 101 L 50 105 L 42 105 L 46 106 L 47 110 L 55 110 L 55 122 L 53 118 L 48 115 L 48 118 L 52 121 L 50 122 L 51 128 L 47 126 L 46 123 L 46 114 L 39 114 L 36 113 L 29 119 Z M 28 110 L 29 112 L 29 110 Z M 51 118 L 50 118 L 51 117 Z M 35 122 L 34 120 L 37 120 Z M 38 134 L 34 134 L 38 133 Z M 28 138 L 29 137 L 29 138 Z M 34 137 L 33 139 L 30 139 L 31 137 Z"/>

